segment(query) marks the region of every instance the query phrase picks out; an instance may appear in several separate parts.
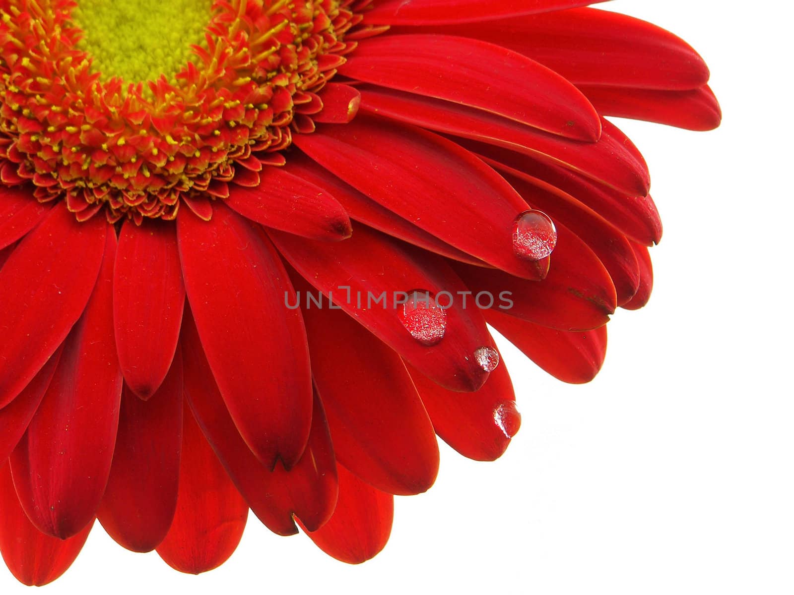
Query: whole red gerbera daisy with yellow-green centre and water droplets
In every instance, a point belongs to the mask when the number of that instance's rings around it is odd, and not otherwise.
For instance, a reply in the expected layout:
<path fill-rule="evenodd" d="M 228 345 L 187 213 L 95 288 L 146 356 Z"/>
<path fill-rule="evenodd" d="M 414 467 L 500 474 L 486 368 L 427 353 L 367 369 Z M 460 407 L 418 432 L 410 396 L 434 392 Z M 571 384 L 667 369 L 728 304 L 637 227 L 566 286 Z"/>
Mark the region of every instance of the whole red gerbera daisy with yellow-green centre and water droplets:
<path fill-rule="evenodd" d="M 682 40 L 580 0 L 0 0 L 0 550 L 94 520 L 177 570 L 248 510 L 345 562 L 436 434 L 518 431 L 486 323 L 565 382 L 661 224 L 603 116 L 719 124 Z M 322 296 L 322 297 L 321 297 Z"/>

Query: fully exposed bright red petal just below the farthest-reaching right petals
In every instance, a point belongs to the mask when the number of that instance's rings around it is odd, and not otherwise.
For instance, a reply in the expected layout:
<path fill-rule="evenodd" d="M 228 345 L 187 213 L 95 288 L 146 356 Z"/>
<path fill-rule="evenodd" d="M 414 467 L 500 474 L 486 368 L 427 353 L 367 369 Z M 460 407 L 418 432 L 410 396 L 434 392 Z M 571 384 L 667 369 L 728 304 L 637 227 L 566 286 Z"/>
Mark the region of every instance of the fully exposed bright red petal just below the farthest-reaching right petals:
<path fill-rule="evenodd" d="M 575 86 L 498 44 L 433 34 L 377 36 L 360 41 L 339 71 L 364 83 L 498 113 L 567 138 L 595 142 L 601 136 L 598 113 Z"/>

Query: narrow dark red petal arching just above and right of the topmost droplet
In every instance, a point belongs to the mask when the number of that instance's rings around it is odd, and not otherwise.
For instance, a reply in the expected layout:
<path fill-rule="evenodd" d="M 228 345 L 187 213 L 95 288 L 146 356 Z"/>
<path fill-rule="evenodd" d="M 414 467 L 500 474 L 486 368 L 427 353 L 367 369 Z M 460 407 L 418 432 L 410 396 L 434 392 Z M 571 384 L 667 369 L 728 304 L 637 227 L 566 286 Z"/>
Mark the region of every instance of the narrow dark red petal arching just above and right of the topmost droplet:
<path fill-rule="evenodd" d="M 542 180 L 530 184 L 514 176 L 506 179 L 533 209 L 541 209 L 588 244 L 612 278 L 618 305 L 634 297 L 640 283 L 640 271 L 637 257 L 626 236 L 599 217 L 598 213 L 571 196 L 555 193 L 555 189 Z"/>

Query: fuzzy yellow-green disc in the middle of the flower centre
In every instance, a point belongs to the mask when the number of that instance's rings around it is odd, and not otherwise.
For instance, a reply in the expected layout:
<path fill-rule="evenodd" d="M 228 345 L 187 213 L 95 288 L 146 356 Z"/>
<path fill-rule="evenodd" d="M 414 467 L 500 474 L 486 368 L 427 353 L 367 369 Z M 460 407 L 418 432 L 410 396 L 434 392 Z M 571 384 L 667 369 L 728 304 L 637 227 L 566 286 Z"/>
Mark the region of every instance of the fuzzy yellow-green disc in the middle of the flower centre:
<path fill-rule="evenodd" d="M 80 0 L 71 21 L 83 31 L 77 47 L 100 79 L 139 83 L 160 75 L 173 81 L 195 61 L 191 46 L 206 47 L 211 16 L 212 0 Z"/>

